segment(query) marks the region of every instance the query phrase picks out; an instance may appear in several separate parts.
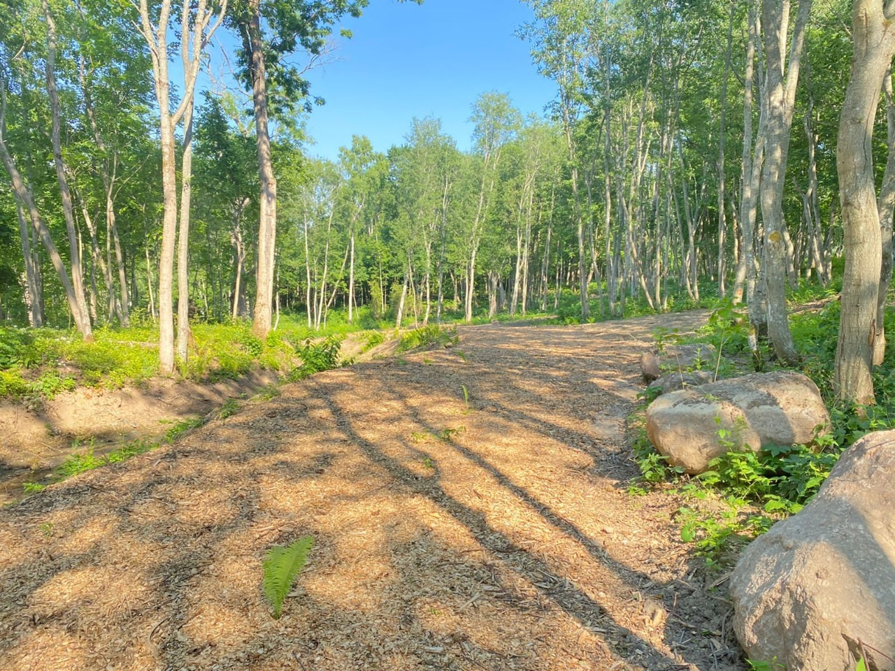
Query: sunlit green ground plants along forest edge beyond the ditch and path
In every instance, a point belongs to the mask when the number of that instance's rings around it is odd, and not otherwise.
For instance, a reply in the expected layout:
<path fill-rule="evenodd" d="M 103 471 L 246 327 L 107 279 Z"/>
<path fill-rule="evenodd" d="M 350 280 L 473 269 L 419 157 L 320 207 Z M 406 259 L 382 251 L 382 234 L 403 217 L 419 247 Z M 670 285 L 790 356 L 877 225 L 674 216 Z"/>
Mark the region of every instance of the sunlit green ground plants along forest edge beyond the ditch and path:
<path fill-rule="evenodd" d="M 591 293 L 596 295 L 592 285 Z M 550 293 L 550 311 L 535 310 L 510 316 L 505 310 L 491 317 L 486 307 L 477 309 L 473 323 L 493 320 L 500 322 L 538 320 L 554 324 L 575 324 L 580 321 L 580 301 L 575 292 L 563 289 L 559 293 L 558 310 L 553 311 L 554 295 Z M 703 299 L 701 306 L 712 304 Z M 695 307 L 685 299 L 672 296 L 669 305 L 674 310 Z M 626 317 L 644 314 L 645 302 L 629 299 Z M 450 344 L 454 338 L 447 325 L 464 321 L 462 310 L 453 310 L 451 303 L 443 310 L 443 326 L 419 327 L 412 310 L 404 320 L 404 327 L 412 327 L 402 338 L 402 351 Z M 592 315 L 600 311 L 592 300 Z M 190 355 L 179 367 L 183 378 L 214 382 L 220 379 L 241 378 L 251 369 L 271 369 L 289 374 L 303 365 L 302 348 L 309 341 L 321 338 L 342 339 L 361 331 L 362 351 L 375 347 L 395 327 L 388 312 L 374 314 L 368 306 L 355 311 L 354 321 L 348 323 L 345 310 L 330 310 L 324 328 L 316 331 L 307 325 L 303 313 L 283 313 L 277 330 L 265 340 L 251 334 L 251 324 L 234 321 L 221 324 L 195 323 L 191 325 Z M 158 328 L 145 320 L 129 328 L 97 327 L 95 342 L 85 343 L 72 330 L 55 328 L 0 327 L 0 398 L 12 398 L 38 405 L 76 386 L 114 389 L 124 385 L 139 385 L 158 373 Z"/>

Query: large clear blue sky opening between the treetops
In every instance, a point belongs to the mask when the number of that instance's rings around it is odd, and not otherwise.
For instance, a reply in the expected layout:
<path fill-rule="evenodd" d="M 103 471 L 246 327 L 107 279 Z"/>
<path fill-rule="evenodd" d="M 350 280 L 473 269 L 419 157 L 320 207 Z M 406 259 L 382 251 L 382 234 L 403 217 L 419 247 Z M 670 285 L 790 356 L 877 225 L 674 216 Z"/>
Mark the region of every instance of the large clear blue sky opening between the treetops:
<path fill-rule="evenodd" d="M 468 149 L 470 108 L 490 90 L 542 115 L 554 86 L 514 34 L 531 19 L 519 0 L 371 0 L 360 19 L 345 21 L 354 38 L 337 38 L 337 60 L 308 75 L 311 93 L 327 101 L 308 118 L 310 153 L 335 158 L 354 134 L 385 151 L 403 142 L 414 116 L 440 118 Z"/>

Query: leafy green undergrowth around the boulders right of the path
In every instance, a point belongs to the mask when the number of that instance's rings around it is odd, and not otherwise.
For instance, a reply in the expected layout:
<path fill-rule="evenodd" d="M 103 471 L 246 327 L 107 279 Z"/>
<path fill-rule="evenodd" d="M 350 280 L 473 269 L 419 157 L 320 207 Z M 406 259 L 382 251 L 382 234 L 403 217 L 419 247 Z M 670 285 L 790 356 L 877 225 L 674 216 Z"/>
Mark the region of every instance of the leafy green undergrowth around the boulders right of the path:
<path fill-rule="evenodd" d="M 629 418 L 628 429 L 640 477 L 630 491 L 643 494 L 661 489 L 682 497 L 678 510 L 681 539 L 695 544 L 698 555 L 710 566 L 729 567 L 738 550 L 776 522 L 801 510 L 829 476 L 849 446 L 872 431 L 895 428 L 895 353 L 874 371 L 876 404 L 855 406 L 833 395 L 833 371 L 839 332 L 840 303 L 835 285 L 822 288 L 807 283 L 789 295 L 790 327 L 802 352 L 798 369 L 821 390 L 831 414 L 832 430 L 813 446 L 771 446 L 761 453 L 741 451 L 731 432 L 720 427 L 719 444 L 726 454 L 710 463 L 710 470 L 688 476 L 671 466 L 646 437 L 645 410 L 658 394 L 655 387 L 642 393 L 642 403 Z M 812 307 L 817 306 L 817 307 Z M 709 343 L 715 361 L 697 361 L 695 368 L 709 369 L 719 378 L 754 371 L 786 369 L 769 347 L 754 354 L 747 343 L 746 310 L 719 302 L 705 327 L 695 335 L 679 335 L 667 329 L 655 333 L 660 346 L 677 343 Z M 895 329 L 895 315 L 886 315 L 886 331 Z"/>

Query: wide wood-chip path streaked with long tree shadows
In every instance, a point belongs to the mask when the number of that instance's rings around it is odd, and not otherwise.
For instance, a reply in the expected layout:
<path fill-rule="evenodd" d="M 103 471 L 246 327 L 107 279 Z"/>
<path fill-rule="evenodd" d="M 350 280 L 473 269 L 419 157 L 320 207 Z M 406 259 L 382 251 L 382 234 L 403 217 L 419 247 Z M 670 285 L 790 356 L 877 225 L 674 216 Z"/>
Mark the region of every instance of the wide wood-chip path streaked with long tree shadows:
<path fill-rule="evenodd" d="M 653 327 L 469 327 L 0 511 L 0 668 L 743 667 L 621 427 Z M 268 548 L 317 544 L 280 620 Z"/>

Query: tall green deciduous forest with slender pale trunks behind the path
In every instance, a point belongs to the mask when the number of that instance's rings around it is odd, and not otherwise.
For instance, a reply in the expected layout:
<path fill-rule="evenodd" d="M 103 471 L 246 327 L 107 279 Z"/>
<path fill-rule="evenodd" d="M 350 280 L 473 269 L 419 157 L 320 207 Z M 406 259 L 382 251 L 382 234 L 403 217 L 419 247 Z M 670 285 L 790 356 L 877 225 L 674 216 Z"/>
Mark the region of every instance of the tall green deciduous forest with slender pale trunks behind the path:
<path fill-rule="evenodd" d="M 346 136 L 311 157 L 303 115 L 327 111 L 303 75 L 365 4 L 5 3 L 4 324 L 158 327 L 169 374 L 191 322 L 263 338 L 284 314 L 322 332 L 727 300 L 754 352 L 795 364 L 788 288 L 843 282 L 835 384 L 873 401 L 888 4 L 530 0 L 518 37 L 556 84 L 544 115 L 487 91 L 470 150 L 422 118 L 400 146 Z M 200 87 L 216 33 L 238 45 L 232 81 Z"/>

